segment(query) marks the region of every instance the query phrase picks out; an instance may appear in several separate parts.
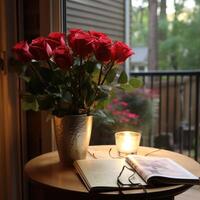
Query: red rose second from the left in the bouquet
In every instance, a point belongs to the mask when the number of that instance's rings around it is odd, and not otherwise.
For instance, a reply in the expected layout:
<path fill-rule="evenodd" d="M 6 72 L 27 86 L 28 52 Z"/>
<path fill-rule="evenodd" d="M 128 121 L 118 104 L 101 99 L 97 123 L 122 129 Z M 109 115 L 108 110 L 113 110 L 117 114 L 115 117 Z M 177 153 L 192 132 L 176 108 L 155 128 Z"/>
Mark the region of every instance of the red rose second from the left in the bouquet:
<path fill-rule="evenodd" d="M 32 40 L 29 49 L 35 60 L 48 60 L 52 55 L 52 49 L 44 37 Z"/>

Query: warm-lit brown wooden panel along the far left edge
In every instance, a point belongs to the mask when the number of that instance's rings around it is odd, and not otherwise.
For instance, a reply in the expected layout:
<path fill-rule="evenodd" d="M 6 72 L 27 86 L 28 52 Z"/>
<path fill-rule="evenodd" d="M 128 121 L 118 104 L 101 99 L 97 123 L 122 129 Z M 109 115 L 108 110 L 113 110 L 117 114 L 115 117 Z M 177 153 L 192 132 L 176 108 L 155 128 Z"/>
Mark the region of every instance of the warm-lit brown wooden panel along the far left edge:
<path fill-rule="evenodd" d="M 9 58 L 17 41 L 16 0 L 0 1 L 0 55 L 4 70 L 0 71 L 0 199 L 22 199 L 21 133 L 19 82 Z"/>

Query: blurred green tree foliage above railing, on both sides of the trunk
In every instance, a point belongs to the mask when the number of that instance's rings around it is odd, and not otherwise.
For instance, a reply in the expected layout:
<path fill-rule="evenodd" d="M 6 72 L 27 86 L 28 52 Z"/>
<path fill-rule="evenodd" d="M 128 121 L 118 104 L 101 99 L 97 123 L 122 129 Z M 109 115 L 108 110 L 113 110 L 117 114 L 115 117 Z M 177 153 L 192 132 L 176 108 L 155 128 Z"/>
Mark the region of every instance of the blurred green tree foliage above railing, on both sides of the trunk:
<path fill-rule="evenodd" d="M 170 20 L 158 15 L 158 66 L 160 69 L 200 68 L 200 1 L 195 0 L 193 10 L 186 8 L 184 3 L 185 0 L 174 1 L 175 13 L 174 16 L 170 16 Z M 133 8 L 133 47 L 147 46 L 147 39 L 148 6 L 144 4 Z"/>

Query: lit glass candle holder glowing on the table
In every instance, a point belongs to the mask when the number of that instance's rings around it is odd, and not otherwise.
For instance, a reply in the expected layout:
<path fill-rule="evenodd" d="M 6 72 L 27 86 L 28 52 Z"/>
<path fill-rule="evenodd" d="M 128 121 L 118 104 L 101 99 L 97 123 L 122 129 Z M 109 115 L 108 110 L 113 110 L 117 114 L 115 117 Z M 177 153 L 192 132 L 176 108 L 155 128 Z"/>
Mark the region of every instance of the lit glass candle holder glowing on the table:
<path fill-rule="evenodd" d="M 120 131 L 115 133 L 116 147 L 122 154 L 137 154 L 141 133 L 134 131 Z"/>

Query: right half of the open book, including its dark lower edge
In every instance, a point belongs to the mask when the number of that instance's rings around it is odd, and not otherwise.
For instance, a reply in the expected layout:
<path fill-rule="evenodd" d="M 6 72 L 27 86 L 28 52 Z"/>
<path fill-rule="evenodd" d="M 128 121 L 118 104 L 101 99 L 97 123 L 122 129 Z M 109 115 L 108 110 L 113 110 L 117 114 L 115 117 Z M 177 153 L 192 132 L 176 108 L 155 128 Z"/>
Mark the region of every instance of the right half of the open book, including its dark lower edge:
<path fill-rule="evenodd" d="M 169 158 L 130 155 L 126 161 L 147 185 L 200 184 L 198 177 Z"/>

